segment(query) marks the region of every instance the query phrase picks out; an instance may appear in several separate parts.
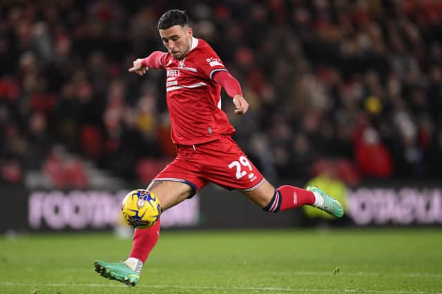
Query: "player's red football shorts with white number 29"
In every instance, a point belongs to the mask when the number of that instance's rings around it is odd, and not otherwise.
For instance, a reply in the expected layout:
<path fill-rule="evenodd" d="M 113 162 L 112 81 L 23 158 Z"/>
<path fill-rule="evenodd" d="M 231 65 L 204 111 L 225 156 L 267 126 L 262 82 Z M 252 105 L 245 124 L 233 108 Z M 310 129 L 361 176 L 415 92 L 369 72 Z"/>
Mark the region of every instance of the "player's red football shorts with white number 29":
<path fill-rule="evenodd" d="M 177 157 L 153 180 L 186 183 L 195 193 L 209 182 L 242 191 L 256 189 L 265 182 L 230 136 L 195 146 L 177 146 Z"/>

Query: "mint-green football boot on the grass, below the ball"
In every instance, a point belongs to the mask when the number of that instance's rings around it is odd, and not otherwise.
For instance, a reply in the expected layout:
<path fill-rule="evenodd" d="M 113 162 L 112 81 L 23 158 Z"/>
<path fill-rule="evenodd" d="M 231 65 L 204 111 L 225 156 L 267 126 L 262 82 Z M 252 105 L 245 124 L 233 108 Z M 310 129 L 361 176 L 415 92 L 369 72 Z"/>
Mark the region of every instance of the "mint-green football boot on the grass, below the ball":
<path fill-rule="evenodd" d="M 135 286 L 140 280 L 140 274 L 133 271 L 123 262 L 104 262 L 97 260 L 94 262 L 95 271 L 102 277 L 109 280 L 117 280 L 128 286 Z"/>

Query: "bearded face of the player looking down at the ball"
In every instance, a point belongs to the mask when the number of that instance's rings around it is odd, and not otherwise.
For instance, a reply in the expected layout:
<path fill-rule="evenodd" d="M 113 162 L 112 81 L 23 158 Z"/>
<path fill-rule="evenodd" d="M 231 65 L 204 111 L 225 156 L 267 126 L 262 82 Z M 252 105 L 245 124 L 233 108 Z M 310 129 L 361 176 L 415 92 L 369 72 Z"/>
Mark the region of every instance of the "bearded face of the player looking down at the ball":
<path fill-rule="evenodd" d="M 174 59 L 181 60 L 191 50 L 192 28 L 189 26 L 172 26 L 160 31 L 164 46 Z"/>

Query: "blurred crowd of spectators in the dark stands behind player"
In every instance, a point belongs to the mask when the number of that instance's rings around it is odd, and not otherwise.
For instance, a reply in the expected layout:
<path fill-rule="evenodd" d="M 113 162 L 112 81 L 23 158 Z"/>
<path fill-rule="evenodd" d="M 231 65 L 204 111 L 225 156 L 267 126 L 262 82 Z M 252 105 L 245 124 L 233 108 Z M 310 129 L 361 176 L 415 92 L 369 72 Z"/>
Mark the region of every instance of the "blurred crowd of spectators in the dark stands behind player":
<path fill-rule="evenodd" d="M 268 179 L 442 175 L 441 0 L 0 2 L 0 181 L 149 182 L 175 153 L 157 19 L 187 10 L 250 103 L 223 109 Z"/>

